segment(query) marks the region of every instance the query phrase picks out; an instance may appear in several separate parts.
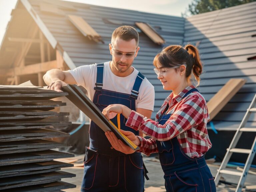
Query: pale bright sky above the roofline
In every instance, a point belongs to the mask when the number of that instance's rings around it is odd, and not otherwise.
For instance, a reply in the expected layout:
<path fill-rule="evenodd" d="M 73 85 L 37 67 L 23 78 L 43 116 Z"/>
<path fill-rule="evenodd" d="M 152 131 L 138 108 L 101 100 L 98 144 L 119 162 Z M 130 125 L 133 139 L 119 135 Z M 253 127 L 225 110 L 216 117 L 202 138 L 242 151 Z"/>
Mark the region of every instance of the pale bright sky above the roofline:
<path fill-rule="evenodd" d="M 69 0 L 73 2 L 131 9 L 136 11 L 181 16 L 188 9 L 192 0 Z M 17 0 L 0 0 L 0 45 L 5 34 L 8 22 L 11 19 L 11 11 L 15 8 Z"/>

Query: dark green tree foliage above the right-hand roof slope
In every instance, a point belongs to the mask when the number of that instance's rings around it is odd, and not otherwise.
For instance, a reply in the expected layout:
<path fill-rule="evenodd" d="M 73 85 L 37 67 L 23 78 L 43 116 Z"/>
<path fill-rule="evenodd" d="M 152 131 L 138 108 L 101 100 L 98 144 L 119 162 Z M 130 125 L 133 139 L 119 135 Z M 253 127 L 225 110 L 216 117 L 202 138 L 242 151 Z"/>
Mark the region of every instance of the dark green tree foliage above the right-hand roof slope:
<path fill-rule="evenodd" d="M 188 10 L 192 15 L 197 15 L 253 1 L 256 0 L 193 0 L 192 3 L 188 5 Z M 187 15 L 187 13 L 185 12 L 183 15 Z"/>

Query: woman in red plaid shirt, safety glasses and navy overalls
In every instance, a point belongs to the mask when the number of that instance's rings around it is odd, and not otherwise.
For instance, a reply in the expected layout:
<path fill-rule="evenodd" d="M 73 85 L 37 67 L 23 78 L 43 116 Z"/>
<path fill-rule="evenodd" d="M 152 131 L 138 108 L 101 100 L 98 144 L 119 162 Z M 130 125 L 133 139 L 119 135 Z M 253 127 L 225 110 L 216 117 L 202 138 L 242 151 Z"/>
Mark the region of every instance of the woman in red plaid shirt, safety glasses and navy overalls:
<path fill-rule="evenodd" d="M 170 45 L 156 55 L 153 64 L 163 89 L 172 90 L 156 120 L 118 104 L 109 105 L 103 114 L 109 119 L 110 112 L 122 113 L 127 118 L 126 126 L 152 137 L 145 139 L 122 131 L 140 147 L 140 152 L 159 153 L 167 192 L 215 192 L 214 178 L 204 159 L 212 146 L 206 127 L 208 110 L 204 97 L 191 82 L 194 76 L 199 85 L 202 73 L 198 50 L 190 44 Z M 105 134 L 116 150 L 134 152 L 113 132 Z"/>

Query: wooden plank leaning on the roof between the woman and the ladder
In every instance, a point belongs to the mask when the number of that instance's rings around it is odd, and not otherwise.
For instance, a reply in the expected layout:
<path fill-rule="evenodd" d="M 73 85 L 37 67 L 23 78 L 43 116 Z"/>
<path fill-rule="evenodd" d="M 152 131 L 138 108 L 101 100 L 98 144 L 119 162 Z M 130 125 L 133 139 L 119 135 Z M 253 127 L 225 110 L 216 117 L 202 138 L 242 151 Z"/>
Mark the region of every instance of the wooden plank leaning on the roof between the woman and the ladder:
<path fill-rule="evenodd" d="M 230 79 L 211 99 L 207 102 L 208 113 L 211 121 L 228 101 L 245 84 L 244 79 Z"/>

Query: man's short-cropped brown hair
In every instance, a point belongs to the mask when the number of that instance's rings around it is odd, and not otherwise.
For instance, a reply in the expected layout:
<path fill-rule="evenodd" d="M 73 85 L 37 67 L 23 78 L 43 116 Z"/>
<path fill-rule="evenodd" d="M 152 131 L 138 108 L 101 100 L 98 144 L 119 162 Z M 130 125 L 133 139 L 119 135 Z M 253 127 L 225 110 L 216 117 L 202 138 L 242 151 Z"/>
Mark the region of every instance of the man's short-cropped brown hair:
<path fill-rule="evenodd" d="M 116 37 L 120 37 L 124 41 L 130 41 L 132 39 L 135 39 L 137 46 L 139 44 L 139 33 L 134 27 L 131 26 L 124 25 L 116 28 L 112 33 L 111 42 Z"/>

